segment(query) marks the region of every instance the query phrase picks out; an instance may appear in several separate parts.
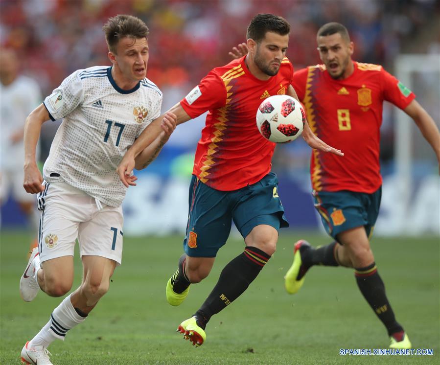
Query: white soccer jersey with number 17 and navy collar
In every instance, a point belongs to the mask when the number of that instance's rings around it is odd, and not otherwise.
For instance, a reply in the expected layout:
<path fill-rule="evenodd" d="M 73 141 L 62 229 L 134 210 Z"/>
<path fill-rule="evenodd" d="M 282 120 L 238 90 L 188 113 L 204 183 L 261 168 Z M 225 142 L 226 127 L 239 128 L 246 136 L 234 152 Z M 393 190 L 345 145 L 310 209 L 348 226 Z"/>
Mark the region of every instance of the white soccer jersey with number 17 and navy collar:
<path fill-rule="evenodd" d="M 80 69 L 46 97 L 52 120 L 63 118 L 43 169 L 100 202 L 119 206 L 127 188 L 116 167 L 144 128 L 161 113 L 162 92 L 147 78 L 122 90 L 111 67 Z"/>

